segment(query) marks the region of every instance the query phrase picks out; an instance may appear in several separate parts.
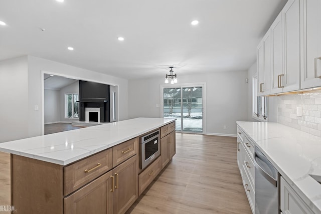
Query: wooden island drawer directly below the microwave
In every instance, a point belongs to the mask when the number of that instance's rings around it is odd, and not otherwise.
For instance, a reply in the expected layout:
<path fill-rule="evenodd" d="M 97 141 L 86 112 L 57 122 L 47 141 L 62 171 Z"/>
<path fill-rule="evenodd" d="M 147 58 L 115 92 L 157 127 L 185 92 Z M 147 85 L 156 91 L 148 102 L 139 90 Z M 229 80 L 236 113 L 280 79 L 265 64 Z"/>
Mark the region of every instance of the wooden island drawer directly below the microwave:
<path fill-rule="evenodd" d="M 151 181 L 157 176 L 162 170 L 162 159 L 159 156 L 154 162 L 152 162 L 147 168 L 144 169 L 138 175 L 138 195 L 140 195 Z"/>

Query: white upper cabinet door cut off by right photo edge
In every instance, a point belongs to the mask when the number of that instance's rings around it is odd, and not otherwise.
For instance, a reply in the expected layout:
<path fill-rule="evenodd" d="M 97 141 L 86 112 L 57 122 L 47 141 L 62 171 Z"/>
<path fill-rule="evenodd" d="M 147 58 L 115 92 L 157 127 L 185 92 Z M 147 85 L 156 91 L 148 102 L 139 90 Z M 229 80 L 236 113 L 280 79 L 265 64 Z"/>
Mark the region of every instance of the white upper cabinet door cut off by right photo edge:
<path fill-rule="evenodd" d="M 303 22 L 305 56 L 301 71 L 302 89 L 321 86 L 321 0 L 303 2 L 306 13 Z"/>

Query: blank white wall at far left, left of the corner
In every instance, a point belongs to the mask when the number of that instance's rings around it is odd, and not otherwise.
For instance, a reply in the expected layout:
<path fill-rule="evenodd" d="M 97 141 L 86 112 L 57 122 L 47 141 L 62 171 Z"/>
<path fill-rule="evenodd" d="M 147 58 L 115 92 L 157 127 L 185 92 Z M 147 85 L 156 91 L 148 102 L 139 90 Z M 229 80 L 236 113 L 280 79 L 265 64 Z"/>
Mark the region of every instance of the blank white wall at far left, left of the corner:
<path fill-rule="evenodd" d="M 0 62 L 0 142 L 28 137 L 27 56 Z"/>

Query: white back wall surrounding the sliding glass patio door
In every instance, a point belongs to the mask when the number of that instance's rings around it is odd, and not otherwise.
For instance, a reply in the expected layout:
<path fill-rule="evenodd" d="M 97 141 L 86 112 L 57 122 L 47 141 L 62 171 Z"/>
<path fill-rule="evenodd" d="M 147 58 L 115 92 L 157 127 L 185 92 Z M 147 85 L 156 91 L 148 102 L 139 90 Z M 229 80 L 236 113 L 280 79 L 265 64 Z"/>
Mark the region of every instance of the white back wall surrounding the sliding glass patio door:
<path fill-rule="evenodd" d="M 236 121 L 247 120 L 247 71 L 177 74 L 180 84 L 206 82 L 206 133 L 234 136 Z M 129 80 L 128 118 L 162 117 L 161 108 L 156 107 L 161 104 L 161 85 L 165 85 L 164 78 Z"/>

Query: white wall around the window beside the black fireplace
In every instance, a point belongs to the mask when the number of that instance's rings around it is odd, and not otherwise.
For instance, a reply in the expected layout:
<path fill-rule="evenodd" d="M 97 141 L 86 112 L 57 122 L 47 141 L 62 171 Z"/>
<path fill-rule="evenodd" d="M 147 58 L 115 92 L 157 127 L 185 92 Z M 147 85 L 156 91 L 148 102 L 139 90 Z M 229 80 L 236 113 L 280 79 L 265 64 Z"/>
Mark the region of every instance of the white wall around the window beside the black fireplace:
<path fill-rule="evenodd" d="M 60 121 L 61 122 L 69 122 L 79 121 L 79 119 L 65 119 L 65 94 L 79 94 L 79 81 L 76 81 L 62 89 L 60 89 Z"/>

